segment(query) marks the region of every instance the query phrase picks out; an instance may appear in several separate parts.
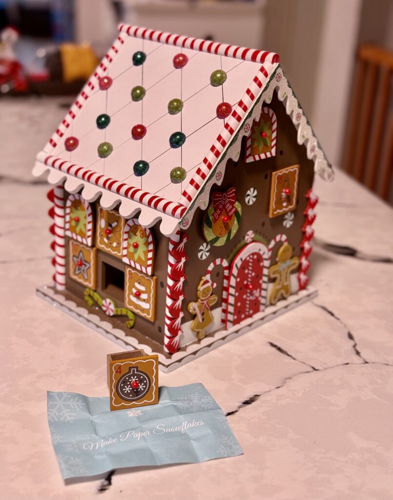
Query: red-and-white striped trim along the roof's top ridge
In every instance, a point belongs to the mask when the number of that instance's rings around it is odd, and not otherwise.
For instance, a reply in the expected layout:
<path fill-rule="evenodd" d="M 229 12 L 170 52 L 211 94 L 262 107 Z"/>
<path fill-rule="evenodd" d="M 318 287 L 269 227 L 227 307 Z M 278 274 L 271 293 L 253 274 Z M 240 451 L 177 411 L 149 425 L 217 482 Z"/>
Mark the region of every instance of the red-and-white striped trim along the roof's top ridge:
<path fill-rule="evenodd" d="M 177 47 L 191 48 L 200 50 L 215 55 L 225 55 L 235 59 L 242 59 L 250 62 L 279 62 L 279 55 L 275 52 L 267 52 L 265 50 L 255 50 L 252 48 L 238 47 L 237 45 L 228 45 L 226 43 L 218 43 L 211 40 L 203 40 L 200 38 L 190 38 L 164 31 L 156 31 L 139 26 L 131 26 L 129 24 L 119 24 L 120 32 L 125 32 L 136 38 L 144 38 L 146 40 L 175 45 Z"/>

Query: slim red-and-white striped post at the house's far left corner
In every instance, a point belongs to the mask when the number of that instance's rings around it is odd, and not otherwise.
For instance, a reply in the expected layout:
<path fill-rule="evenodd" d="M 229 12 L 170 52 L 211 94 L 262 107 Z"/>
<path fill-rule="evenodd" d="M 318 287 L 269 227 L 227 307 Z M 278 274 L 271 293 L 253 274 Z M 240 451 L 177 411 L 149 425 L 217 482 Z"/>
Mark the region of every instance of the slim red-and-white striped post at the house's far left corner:
<path fill-rule="evenodd" d="M 53 188 L 54 208 L 54 283 L 56 290 L 65 290 L 64 187 Z"/>

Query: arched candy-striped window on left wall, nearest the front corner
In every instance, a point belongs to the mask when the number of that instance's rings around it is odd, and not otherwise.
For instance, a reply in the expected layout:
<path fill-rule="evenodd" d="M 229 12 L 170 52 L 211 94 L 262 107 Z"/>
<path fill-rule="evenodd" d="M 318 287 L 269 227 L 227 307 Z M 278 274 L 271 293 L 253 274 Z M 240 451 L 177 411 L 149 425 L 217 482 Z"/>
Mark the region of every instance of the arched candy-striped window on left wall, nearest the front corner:
<path fill-rule="evenodd" d="M 138 219 L 129 219 L 125 224 L 122 260 L 146 274 L 153 273 L 154 238 L 150 229 L 141 226 Z"/>

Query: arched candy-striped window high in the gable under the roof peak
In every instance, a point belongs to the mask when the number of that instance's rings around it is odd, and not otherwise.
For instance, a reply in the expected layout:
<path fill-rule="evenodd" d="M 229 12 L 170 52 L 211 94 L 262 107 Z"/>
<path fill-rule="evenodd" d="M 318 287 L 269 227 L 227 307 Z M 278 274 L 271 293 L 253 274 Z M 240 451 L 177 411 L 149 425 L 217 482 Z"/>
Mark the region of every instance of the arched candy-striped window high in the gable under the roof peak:
<path fill-rule="evenodd" d="M 254 121 L 245 142 L 245 161 L 257 161 L 275 156 L 277 118 L 269 107 L 262 106 L 258 121 Z"/>

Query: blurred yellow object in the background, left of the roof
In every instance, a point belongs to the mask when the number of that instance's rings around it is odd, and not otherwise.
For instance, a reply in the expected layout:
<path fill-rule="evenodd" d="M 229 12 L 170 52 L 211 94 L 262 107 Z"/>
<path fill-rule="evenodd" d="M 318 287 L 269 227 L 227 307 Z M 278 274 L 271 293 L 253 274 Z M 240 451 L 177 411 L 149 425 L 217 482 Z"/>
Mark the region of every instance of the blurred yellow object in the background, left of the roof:
<path fill-rule="evenodd" d="M 63 81 L 87 80 L 98 64 L 98 58 L 90 45 L 63 43 L 60 46 Z"/>

